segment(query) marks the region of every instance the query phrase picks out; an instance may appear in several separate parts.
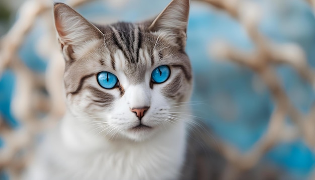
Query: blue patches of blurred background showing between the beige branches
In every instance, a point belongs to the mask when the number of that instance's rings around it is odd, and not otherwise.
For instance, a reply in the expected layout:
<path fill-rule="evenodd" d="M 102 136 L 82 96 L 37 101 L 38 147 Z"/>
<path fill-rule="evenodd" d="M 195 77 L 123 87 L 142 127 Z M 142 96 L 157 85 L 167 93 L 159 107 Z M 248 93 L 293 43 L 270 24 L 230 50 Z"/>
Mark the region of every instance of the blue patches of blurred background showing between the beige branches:
<path fill-rule="evenodd" d="M 14 22 L 16 9 L 10 7 L 11 1 L 0 2 L 0 35 L 4 35 Z M 113 2 L 94 1 L 76 10 L 94 22 L 140 21 L 158 14 L 170 0 Z M 306 1 L 255 2 L 260 5 L 264 15 L 259 25 L 260 31 L 279 43 L 297 43 L 306 52 L 308 63 L 314 66 L 315 19 Z M 18 7 L 18 3 L 14 7 Z M 46 31 L 43 25 L 40 21 L 36 23 L 19 50 L 19 56 L 27 66 L 42 74 L 47 59 L 37 53 L 36 44 Z M 194 71 L 194 115 L 206 122 L 215 137 L 246 151 L 266 132 L 274 108 L 273 99 L 255 72 L 237 64 L 222 63 L 211 56 L 209 47 L 217 40 L 226 40 L 245 50 L 254 48 L 244 27 L 227 13 L 193 1 L 187 53 Z M 293 104 L 307 113 L 315 99 L 311 86 L 287 65 L 277 67 L 277 73 Z M 18 128 L 19 122 L 10 112 L 14 84 L 14 73 L 6 70 L 0 79 L 0 115 L 12 128 Z M 4 145 L 0 140 L 0 147 Z M 277 144 L 264 155 L 262 161 L 282 167 L 292 179 L 307 179 L 314 168 L 315 156 L 302 139 L 296 139 Z"/>

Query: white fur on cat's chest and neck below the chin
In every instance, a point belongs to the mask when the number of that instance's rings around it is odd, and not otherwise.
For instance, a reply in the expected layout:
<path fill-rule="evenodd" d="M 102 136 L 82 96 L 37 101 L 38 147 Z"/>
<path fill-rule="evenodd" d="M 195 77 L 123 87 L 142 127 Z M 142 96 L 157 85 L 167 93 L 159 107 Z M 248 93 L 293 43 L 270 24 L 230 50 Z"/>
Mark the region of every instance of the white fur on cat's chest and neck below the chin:
<path fill-rule="evenodd" d="M 38 180 L 178 178 L 185 153 L 184 121 L 145 142 L 110 141 L 91 134 L 78 122 L 68 114 L 49 137 L 45 156 L 33 172 Z M 59 159 L 64 172 L 45 168 L 47 161 L 54 159 Z M 34 176 L 30 179 L 37 180 Z"/>

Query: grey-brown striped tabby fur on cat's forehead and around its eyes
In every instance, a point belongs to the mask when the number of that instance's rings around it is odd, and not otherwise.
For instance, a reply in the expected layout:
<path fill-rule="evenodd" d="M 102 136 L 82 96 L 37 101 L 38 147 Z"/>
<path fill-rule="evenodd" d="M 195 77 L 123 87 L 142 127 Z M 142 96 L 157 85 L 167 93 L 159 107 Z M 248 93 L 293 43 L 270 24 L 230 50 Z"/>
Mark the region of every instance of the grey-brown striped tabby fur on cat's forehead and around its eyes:
<path fill-rule="evenodd" d="M 83 66 L 99 66 L 111 68 L 116 71 L 115 65 L 117 59 L 113 54 L 117 51 L 122 51 L 125 58 L 124 73 L 128 76 L 128 80 L 131 84 L 139 84 L 145 81 L 147 75 L 147 64 L 151 69 L 154 69 L 154 65 L 159 64 L 169 65 L 171 69 L 179 68 L 182 73 L 181 77 L 185 78 L 182 83 L 191 84 L 192 73 L 189 58 L 183 50 L 182 44 L 175 44 L 169 42 L 168 38 L 159 37 L 159 34 L 150 31 L 149 25 L 151 21 L 145 21 L 143 23 L 126 23 L 120 22 L 111 25 L 95 25 L 100 32 L 104 34 L 104 44 L 102 45 L 102 38 L 99 38 L 99 46 L 95 49 L 91 49 L 90 52 L 83 58 L 71 58 L 71 61 L 66 61 L 65 69 L 65 87 L 67 94 L 77 95 L 81 91 L 86 89 L 85 80 L 87 77 L 96 76 L 98 71 L 86 72 L 82 71 Z M 159 38 L 158 38 L 159 37 Z M 142 50 L 142 54 L 141 53 Z M 144 58 L 144 53 L 149 54 L 148 58 Z M 75 53 L 75 50 L 74 50 Z M 107 56 L 100 60 L 89 58 L 89 56 Z M 109 59 L 106 59 L 109 58 Z M 83 63 L 84 62 L 84 63 Z M 80 75 L 78 75 L 80 74 Z M 78 78 L 80 77 L 80 78 Z M 94 77 L 93 77 L 94 78 Z M 179 77 L 177 77 L 179 79 Z M 149 84 L 149 82 L 145 82 Z M 179 83 L 171 83 L 162 92 L 167 98 L 179 99 L 180 93 L 177 93 L 179 87 L 185 88 L 185 85 Z M 121 86 L 120 88 L 123 88 Z M 177 89 L 177 91 L 170 91 L 170 89 Z M 123 94 L 123 92 L 121 92 Z M 100 99 L 100 98 L 98 98 Z M 101 100 L 94 99 L 91 101 L 97 102 Z M 114 101 L 109 99 L 108 103 Z M 97 104 L 96 104 L 97 105 Z"/>

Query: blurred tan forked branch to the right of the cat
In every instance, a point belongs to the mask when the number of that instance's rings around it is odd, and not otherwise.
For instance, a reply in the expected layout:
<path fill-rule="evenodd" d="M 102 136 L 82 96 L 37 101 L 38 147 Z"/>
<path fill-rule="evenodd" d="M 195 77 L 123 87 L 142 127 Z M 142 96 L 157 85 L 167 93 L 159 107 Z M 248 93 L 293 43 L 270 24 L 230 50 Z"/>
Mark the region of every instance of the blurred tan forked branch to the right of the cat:
<path fill-rule="evenodd" d="M 203 0 L 203 2 L 218 7 L 237 19 L 245 27 L 256 46 L 254 51 L 244 52 L 226 42 L 217 42 L 210 47 L 211 54 L 219 59 L 229 59 L 253 69 L 270 89 L 277 107 L 269 121 L 266 134 L 249 152 L 243 155 L 235 148 L 223 143 L 222 154 L 235 168 L 242 171 L 256 165 L 268 149 L 273 147 L 278 140 L 284 140 L 286 137 L 294 139 L 297 135 L 303 135 L 305 142 L 314 148 L 315 106 L 312 107 L 308 116 L 303 116 L 292 105 L 273 68 L 275 64 L 289 64 L 315 87 L 315 72 L 307 64 L 304 51 L 296 44 L 276 44 L 264 36 L 257 28 L 261 12 L 254 2 L 242 0 L 234 0 L 232 3 L 229 0 Z M 315 1 L 311 1 L 313 2 Z M 233 3 L 238 3 L 238 5 Z M 283 131 L 287 128 L 284 123 L 286 115 L 295 122 L 298 133 L 287 134 L 290 131 Z"/>

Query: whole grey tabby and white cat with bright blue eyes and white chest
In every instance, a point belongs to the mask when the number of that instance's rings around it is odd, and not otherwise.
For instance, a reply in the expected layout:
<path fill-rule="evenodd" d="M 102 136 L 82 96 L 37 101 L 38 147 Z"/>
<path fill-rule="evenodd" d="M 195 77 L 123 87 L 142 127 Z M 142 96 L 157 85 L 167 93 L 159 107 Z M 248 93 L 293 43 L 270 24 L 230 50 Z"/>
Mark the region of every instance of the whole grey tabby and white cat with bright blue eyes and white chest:
<path fill-rule="evenodd" d="M 54 5 L 67 112 L 26 179 L 182 179 L 193 121 L 189 7 L 173 0 L 155 19 L 101 26 Z"/>

